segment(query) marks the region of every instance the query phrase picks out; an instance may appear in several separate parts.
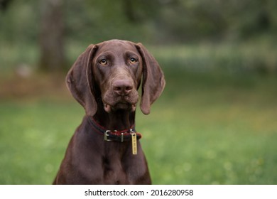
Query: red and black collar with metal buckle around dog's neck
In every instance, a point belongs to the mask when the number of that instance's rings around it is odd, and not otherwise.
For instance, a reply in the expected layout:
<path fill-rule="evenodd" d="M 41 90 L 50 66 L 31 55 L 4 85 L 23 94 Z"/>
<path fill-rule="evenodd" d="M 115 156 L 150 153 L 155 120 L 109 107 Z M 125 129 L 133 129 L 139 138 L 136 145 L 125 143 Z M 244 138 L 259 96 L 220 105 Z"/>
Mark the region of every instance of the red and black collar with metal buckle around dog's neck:
<path fill-rule="evenodd" d="M 137 140 L 141 139 L 141 134 L 137 133 L 132 126 L 130 129 L 125 129 L 121 131 L 117 130 L 108 130 L 102 127 L 99 123 L 97 123 L 92 117 L 89 117 L 89 122 L 92 124 L 92 127 L 97 131 L 97 133 L 104 135 L 104 141 L 131 141 L 134 136 Z"/>

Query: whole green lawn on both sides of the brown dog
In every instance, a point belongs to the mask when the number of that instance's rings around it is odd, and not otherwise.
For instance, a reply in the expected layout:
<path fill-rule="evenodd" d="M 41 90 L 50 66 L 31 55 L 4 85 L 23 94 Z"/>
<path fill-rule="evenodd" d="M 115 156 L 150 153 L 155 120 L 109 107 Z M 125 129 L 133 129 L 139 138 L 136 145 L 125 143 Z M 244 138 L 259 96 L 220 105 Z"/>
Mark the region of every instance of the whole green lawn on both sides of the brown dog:
<path fill-rule="evenodd" d="M 161 65 L 163 95 L 136 112 L 153 183 L 277 184 L 276 75 Z M 0 184 L 52 183 L 85 114 L 54 95 L 0 100 Z"/>

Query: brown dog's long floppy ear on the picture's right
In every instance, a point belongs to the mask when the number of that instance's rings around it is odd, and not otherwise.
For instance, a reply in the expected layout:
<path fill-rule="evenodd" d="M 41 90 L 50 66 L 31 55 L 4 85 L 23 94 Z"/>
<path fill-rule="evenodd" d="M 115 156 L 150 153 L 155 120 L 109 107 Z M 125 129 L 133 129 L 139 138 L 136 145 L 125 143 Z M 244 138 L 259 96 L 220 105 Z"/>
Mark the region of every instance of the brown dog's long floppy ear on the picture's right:
<path fill-rule="evenodd" d="M 165 87 L 165 77 L 163 71 L 153 55 L 141 44 L 136 44 L 136 48 L 143 60 L 143 81 L 141 95 L 141 111 L 143 114 L 150 113 L 150 106 L 161 95 Z"/>

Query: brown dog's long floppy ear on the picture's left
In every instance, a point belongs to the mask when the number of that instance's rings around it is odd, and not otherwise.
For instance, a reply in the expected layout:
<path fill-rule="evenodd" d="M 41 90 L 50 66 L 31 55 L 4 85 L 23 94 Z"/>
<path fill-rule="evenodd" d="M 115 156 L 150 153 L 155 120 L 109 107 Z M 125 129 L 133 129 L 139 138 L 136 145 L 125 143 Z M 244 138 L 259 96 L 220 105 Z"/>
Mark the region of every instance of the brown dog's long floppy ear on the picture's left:
<path fill-rule="evenodd" d="M 67 73 L 66 83 L 72 96 L 85 108 L 89 116 L 97 112 L 97 102 L 92 89 L 92 58 L 97 50 L 96 45 L 89 45 Z"/>

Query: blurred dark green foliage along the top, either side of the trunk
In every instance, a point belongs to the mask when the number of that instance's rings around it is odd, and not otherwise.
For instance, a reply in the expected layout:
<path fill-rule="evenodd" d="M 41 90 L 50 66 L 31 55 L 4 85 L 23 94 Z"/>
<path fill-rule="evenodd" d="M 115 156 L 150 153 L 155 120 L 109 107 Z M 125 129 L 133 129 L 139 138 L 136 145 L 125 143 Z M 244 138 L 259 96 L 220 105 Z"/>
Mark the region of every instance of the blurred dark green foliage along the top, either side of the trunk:
<path fill-rule="evenodd" d="M 83 43 L 124 38 L 143 43 L 188 42 L 202 39 L 240 40 L 277 28 L 274 0 L 79 0 L 63 1 L 65 36 Z M 40 1 L 11 1 L 1 11 L 1 38 L 38 39 Z"/>

